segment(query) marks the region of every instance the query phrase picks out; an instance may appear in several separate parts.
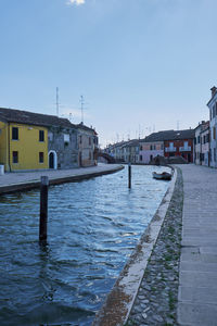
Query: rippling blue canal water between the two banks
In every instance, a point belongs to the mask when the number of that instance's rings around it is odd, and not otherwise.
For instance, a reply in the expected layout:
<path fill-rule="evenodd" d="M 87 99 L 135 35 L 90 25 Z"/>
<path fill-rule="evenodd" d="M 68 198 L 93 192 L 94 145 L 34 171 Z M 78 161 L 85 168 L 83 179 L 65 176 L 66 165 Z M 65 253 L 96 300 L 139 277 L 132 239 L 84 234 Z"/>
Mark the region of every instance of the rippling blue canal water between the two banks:
<path fill-rule="evenodd" d="M 91 324 L 167 190 L 154 170 L 50 187 L 47 247 L 39 190 L 0 197 L 1 326 Z"/>

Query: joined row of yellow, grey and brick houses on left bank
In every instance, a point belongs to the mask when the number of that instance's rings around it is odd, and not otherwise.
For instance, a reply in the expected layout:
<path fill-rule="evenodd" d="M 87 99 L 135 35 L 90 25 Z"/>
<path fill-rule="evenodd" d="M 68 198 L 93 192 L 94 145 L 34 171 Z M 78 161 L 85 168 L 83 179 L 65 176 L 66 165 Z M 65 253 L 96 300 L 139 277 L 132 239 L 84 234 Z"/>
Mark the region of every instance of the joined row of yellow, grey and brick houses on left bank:
<path fill-rule="evenodd" d="M 97 146 L 98 135 L 87 126 L 0 108 L 0 164 L 7 172 L 92 166 Z"/>

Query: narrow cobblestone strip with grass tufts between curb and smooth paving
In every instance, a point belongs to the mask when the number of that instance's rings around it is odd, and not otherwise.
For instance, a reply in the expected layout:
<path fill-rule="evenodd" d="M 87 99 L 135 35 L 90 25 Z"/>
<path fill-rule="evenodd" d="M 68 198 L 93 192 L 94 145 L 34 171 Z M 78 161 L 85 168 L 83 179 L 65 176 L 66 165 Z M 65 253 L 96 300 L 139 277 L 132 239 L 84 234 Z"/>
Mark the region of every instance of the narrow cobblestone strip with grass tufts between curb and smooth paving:
<path fill-rule="evenodd" d="M 177 325 L 182 196 L 178 170 L 174 195 L 127 326 Z"/>

